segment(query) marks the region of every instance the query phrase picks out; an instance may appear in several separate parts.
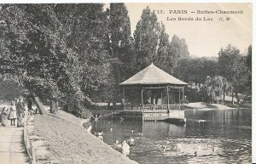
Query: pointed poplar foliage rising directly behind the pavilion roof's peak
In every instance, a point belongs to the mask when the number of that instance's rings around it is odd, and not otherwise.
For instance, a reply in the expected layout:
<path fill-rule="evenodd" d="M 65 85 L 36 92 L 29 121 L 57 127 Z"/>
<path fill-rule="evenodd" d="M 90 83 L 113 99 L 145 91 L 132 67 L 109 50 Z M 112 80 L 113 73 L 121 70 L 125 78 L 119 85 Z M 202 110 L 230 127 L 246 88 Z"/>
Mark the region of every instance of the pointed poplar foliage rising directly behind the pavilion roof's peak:
<path fill-rule="evenodd" d="M 160 69 L 173 74 L 178 60 L 189 56 L 185 39 L 174 35 L 170 42 L 165 25 L 148 7 L 143 9 L 141 20 L 137 22 L 134 45 L 139 70 L 154 62 Z"/>

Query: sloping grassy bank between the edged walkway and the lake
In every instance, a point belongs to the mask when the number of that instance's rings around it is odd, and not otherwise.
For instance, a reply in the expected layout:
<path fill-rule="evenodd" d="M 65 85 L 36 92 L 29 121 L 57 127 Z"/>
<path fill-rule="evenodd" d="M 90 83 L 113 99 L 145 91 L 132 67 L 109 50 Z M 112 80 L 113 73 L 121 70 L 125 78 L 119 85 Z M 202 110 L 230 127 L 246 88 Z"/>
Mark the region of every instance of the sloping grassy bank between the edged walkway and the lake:
<path fill-rule="evenodd" d="M 47 161 L 61 164 L 137 163 L 87 133 L 79 122 L 75 123 L 76 117 L 68 117 L 74 122 L 55 116 L 34 117 L 35 135 L 46 141 L 45 147 L 50 152 Z"/>

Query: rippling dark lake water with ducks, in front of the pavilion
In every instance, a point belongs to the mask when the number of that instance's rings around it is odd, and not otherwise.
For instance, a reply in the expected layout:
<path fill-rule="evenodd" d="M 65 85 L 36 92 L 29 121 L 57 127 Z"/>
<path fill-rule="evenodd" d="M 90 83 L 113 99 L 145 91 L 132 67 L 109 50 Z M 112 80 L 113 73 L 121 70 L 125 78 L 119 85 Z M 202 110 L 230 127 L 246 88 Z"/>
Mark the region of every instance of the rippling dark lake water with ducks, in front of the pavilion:
<path fill-rule="evenodd" d="M 112 146 L 137 135 L 129 158 L 142 164 L 252 162 L 251 109 L 186 110 L 185 117 L 185 125 L 104 118 L 92 122 L 91 132 L 103 131 Z"/>

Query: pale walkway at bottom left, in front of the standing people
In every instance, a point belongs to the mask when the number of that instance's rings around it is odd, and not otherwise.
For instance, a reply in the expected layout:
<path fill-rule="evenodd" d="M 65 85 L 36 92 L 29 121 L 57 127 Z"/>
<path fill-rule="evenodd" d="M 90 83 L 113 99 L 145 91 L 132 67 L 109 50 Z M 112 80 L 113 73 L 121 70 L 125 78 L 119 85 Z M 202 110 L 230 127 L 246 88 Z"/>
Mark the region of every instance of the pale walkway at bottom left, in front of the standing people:
<path fill-rule="evenodd" d="M 23 127 L 0 127 L 0 164 L 28 164 Z"/>

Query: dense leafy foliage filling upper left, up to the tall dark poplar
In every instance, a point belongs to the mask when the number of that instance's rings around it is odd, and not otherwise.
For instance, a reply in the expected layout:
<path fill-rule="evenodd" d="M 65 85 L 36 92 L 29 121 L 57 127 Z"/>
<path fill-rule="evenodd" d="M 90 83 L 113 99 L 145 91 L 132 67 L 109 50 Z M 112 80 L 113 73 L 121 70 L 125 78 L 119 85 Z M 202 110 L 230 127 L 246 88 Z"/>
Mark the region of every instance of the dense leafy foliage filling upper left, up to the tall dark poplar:
<path fill-rule="evenodd" d="M 108 76 L 101 71 L 108 68 L 102 62 L 108 59 L 107 39 L 98 35 L 106 30 L 102 4 L 78 5 L 71 25 L 57 17 L 58 7 L 53 4 L 3 6 L 1 64 L 10 65 L 20 84 L 31 93 L 54 99 L 68 97 L 77 106 L 84 100 L 91 104 L 88 93 L 102 85 Z M 89 15 L 79 20 L 83 14 Z M 88 29 L 87 33 L 84 28 Z"/>

